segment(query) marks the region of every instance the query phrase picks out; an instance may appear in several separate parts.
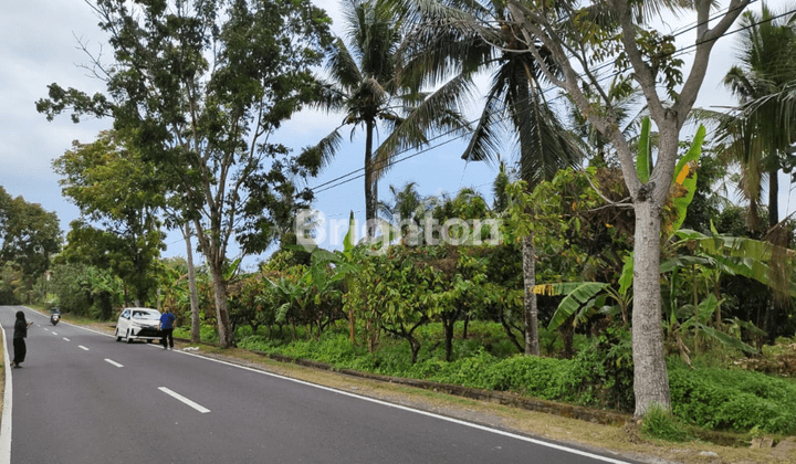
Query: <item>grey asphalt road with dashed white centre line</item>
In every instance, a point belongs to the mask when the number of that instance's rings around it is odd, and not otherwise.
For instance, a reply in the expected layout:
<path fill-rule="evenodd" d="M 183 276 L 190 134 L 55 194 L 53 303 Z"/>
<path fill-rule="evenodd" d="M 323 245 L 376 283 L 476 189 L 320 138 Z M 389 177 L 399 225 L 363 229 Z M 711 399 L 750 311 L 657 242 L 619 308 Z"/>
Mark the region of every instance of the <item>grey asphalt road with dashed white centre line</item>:
<path fill-rule="evenodd" d="M 0 307 L 9 356 L 19 309 Z M 14 464 L 625 462 L 23 310 L 28 357 L 6 370 Z"/>

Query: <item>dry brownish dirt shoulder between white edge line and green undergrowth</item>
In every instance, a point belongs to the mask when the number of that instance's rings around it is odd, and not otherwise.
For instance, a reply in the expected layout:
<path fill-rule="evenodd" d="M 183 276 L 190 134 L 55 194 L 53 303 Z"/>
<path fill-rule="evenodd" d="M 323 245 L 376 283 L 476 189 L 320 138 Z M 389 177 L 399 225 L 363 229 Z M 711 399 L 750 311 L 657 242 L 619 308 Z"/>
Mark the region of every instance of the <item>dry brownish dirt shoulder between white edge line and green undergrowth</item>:
<path fill-rule="evenodd" d="M 107 324 L 83 324 L 92 329 L 113 334 Z M 439 391 L 360 378 L 347 373 L 277 362 L 242 349 L 191 347 L 178 341 L 176 349 L 245 366 L 293 379 L 303 380 L 381 401 L 483 424 L 541 440 L 563 442 L 573 446 L 619 458 L 646 463 L 796 463 L 796 437 L 764 441 L 763 447 L 730 447 L 708 442 L 669 443 L 639 436 L 635 423 L 603 425 L 549 413 L 528 411 L 455 397 Z M 197 349 L 198 348 L 198 349 Z M 771 446 L 776 444 L 776 446 Z"/>

